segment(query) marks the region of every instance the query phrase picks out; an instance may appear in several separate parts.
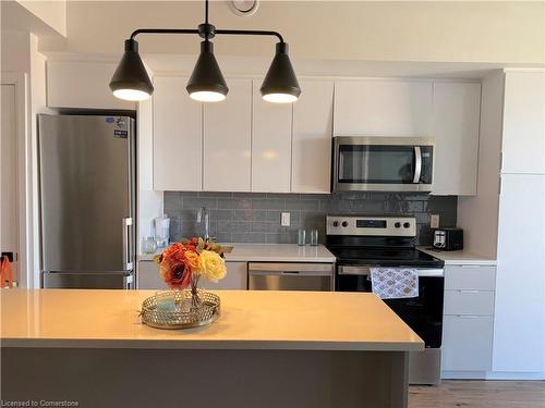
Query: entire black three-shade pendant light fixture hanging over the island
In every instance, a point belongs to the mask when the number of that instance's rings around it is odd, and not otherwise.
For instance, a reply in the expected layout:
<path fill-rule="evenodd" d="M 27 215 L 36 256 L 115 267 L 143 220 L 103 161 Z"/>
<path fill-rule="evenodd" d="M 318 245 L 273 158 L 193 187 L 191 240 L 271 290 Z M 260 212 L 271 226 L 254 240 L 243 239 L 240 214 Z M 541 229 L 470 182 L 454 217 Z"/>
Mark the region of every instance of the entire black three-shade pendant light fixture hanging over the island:
<path fill-rule="evenodd" d="M 298 78 L 288 55 L 288 44 L 277 32 L 216 29 L 208 23 L 208 0 L 205 0 L 205 23 L 197 29 L 177 28 L 140 28 L 125 40 L 125 52 L 110 82 L 110 89 L 120 99 L 138 101 L 147 99 L 154 91 L 152 81 L 138 54 L 138 42 L 134 39 L 138 34 L 197 34 L 204 40 L 201 42 L 201 54 L 191 74 L 186 89 L 192 99 L 202 102 L 218 102 L 226 99 L 229 88 L 221 74 L 216 57 L 214 42 L 218 34 L 275 36 L 279 39 L 276 54 L 261 87 L 263 99 L 268 102 L 294 102 L 301 95 Z"/>

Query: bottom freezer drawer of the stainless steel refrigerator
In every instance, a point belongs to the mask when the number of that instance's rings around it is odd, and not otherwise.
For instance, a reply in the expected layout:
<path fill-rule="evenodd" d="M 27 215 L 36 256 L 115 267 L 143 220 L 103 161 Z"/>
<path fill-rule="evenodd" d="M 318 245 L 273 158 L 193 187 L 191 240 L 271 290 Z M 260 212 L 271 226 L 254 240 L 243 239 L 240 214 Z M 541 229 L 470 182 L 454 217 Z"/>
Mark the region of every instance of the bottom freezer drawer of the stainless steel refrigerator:
<path fill-rule="evenodd" d="M 41 287 L 46 289 L 130 289 L 133 287 L 133 275 L 129 272 L 44 272 Z"/>

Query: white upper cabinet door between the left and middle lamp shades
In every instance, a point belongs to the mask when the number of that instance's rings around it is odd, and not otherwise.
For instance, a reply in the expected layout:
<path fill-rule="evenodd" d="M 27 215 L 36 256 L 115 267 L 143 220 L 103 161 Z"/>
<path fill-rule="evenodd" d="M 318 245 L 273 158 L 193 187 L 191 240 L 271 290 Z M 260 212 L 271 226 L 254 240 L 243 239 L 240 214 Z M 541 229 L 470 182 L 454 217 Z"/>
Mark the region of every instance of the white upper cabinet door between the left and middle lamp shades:
<path fill-rule="evenodd" d="M 187 77 L 154 78 L 154 189 L 203 187 L 203 108 L 187 95 Z"/>

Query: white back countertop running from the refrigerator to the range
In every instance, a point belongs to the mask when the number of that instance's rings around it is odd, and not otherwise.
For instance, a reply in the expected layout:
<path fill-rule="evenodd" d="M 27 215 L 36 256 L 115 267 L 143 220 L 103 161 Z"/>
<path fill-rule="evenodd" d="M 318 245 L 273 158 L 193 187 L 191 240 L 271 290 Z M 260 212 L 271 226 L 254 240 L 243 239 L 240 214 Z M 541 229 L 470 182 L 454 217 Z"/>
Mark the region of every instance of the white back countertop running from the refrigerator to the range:
<path fill-rule="evenodd" d="M 226 261 L 240 262 L 335 262 L 335 256 L 324 245 L 317 247 L 296 244 L 226 244 L 233 250 L 226 254 Z M 157 254 L 160 254 L 158 251 Z M 155 254 L 138 256 L 138 260 L 153 260 Z"/>

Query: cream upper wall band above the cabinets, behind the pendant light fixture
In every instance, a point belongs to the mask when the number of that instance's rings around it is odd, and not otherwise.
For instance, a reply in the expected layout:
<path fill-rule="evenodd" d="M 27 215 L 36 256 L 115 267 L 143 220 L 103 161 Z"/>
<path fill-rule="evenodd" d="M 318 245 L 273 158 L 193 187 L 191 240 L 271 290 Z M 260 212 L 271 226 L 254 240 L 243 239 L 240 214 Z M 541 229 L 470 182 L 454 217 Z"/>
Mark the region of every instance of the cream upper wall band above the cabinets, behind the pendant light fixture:
<path fill-rule="evenodd" d="M 68 51 L 120 53 L 137 27 L 193 28 L 203 1 L 70 1 Z M 275 29 L 301 59 L 545 63 L 543 2 L 262 1 L 251 17 L 210 2 L 219 28 Z M 142 50 L 193 54 L 194 36 L 138 36 Z M 272 55 L 274 38 L 219 36 L 219 55 Z M 51 49 L 55 49 L 52 46 Z M 58 49 L 58 48 L 57 48 Z"/>

